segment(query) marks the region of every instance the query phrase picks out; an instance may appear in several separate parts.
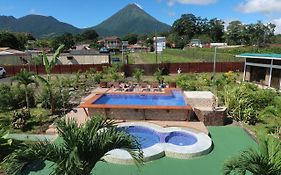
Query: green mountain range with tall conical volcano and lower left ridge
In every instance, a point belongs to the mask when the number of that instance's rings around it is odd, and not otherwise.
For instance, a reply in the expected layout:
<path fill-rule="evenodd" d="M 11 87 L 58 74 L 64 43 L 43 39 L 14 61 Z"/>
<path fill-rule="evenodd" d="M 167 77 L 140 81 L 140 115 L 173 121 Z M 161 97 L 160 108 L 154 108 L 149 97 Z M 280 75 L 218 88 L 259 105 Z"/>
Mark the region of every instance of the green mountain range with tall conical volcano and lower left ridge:
<path fill-rule="evenodd" d="M 137 5 L 129 4 L 101 24 L 90 29 L 95 29 L 100 36 L 123 36 L 128 33 L 164 32 L 168 31 L 170 26 L 159 22 Z M 37 38 L 42 38 L 62 35 L 65 32 L 77 34 L 85 29 L 60 22 L 51 16 L 27 15 L 18 19 L 13 16 L 0 16 L 0 30 L 27 32 Z"/>

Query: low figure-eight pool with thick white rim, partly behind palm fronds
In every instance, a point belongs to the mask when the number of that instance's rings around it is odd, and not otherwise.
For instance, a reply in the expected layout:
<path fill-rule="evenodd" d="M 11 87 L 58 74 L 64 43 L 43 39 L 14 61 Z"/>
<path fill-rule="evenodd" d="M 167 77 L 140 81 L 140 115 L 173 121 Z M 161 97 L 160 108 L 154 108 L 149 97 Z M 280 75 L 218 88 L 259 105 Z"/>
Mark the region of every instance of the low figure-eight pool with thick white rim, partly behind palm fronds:
<path fill-rule="evenodd" d="M 192 129 L 168 127 L 147 122 L 126 122 L 118 125 L 119 130 L 135 136 L 141 144 L 144 161 L 163 156 L 188 159 L 208 154 L 212 149 L 211 138 Z M 104 159 L 111 163 L 133 164 L 131 155 L 123 149 L 114 149 Z"/>

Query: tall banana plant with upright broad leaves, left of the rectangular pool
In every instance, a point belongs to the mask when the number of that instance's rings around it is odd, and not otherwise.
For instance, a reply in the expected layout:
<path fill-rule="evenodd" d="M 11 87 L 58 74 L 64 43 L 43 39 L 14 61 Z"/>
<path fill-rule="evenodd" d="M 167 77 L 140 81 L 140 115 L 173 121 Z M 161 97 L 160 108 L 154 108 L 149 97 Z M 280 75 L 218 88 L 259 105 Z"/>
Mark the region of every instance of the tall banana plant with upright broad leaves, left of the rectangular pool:
<path fill-rule="evenodd" d="M 54 105 L 54 98 L 53 98 L 53 88 L 52 88 L 52 84 L 51 84 L 51 70 L 56 65 L 57 60 L 58 60 L 58 58 L 60 56 L 60 53 L 63 50 L 63 48 L 64 48 L 64 45 L 59 46 L 59 48 L 54 53 L 51 61 L 48 60 L 48 56 L 46 55 L 45 52 L 43 52 L 42 57 L 43 57 L 43 61 L 44 61 L 45 71 L 47 73 L 47 78 L 44 78 L 40 75 L 36 76 L 45 85 L 45 90 L 49 94 L 52 113 L 55 112 L 55 105 Z"/>

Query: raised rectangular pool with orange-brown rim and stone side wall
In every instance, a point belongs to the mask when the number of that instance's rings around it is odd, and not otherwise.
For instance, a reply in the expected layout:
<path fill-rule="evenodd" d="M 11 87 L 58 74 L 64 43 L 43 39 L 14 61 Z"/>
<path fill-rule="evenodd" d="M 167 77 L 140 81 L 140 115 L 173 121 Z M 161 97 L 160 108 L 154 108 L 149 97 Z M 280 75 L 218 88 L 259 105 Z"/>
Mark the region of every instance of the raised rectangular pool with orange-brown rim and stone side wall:
<path fill-rule="evenodd" d="M 118 120 L 188 121 L 193 113 L 184 93 L 172 88 L 164 92 L 96 94 L 80 107 L 88 116 L 101 114 Z"/>

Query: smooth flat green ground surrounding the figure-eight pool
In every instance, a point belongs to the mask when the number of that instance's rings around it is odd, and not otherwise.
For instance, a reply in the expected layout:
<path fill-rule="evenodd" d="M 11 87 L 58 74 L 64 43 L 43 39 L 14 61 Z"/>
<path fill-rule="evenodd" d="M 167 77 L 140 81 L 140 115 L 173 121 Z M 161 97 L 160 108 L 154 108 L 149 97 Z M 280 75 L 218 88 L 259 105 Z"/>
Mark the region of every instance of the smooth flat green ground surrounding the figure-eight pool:
<path fill-rule="evenodd" d="M 256 143 L 240 127 L 209 127 L 210 135 L 214 143 L 213 151 L 202 157 L 189 160 L 161 158 L 139 169 L 133 165 L 117 165 L 99 162 L 93 170 L 96 175 L 219 175 L 222 174 L 223 162 L 232 155 Z M 45 168 L 43 169 L 43 167 Z M 50 173 L 50 162 L 46 162 L 36 170 L 24 173 L 24 175 L 46 175 Z"/>

